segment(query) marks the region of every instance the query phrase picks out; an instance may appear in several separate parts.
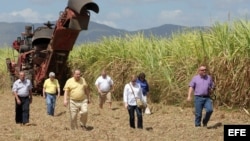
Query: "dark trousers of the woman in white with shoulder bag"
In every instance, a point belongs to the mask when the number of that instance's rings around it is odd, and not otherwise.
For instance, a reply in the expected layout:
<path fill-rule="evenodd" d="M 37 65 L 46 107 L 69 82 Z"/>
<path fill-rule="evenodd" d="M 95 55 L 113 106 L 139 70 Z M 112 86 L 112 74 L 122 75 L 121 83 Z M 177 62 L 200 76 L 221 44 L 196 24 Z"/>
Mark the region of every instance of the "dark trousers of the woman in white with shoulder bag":
<path fill-rule="evenodd" d="M 142 110 L 137 106 L 128 105 L 128 114 L 129 114 L 129 124 L 131 128 L 135 128 L 135 112 L 137 115 L 137 128 L 143 128 L 142 121 Z"/>

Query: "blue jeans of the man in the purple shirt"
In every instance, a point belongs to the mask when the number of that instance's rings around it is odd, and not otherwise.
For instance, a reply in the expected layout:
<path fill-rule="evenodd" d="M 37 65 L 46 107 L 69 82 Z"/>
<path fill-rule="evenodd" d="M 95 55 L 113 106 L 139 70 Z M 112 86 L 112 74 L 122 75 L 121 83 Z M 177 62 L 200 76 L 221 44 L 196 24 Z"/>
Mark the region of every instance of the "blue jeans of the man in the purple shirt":
<path fill-rule="evenodd" d="M 201 126 L 202 110 L 205 108 L 206 114 L 202 120 L 203 126 L 206 126 L 212 113 L 213 113 L 213 104 L 210 97 L 199 97 L 195 96 L 195 126 Z"/>

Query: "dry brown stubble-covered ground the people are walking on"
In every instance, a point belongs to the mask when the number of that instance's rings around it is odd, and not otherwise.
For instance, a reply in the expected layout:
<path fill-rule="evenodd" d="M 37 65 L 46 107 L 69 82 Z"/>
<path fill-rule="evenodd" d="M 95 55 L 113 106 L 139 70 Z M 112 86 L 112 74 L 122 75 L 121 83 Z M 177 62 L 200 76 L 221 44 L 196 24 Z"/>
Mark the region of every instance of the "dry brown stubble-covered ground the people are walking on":
<path fill-rule="evenodd" d="M 10 92 L 0 95 L 1 141 L 223 141 L 223 124 L 250 124 L 250 117 L 241 110 L 214 109 L 207 129 L 194 127 L 192 108 L 151 104 L 153 114 L 144 115 L 144 129 L 130 129 L 128 113 L 121 101 L 113 109 L 98 114 L 97 100 L 89 105 L 89 131 L 69 130 L 68 109 L 59 98 L 54 117 L 46 115 L 45 100 L 34 96 L 30 126 L 15 124 L 14 97 Z M 218 124 L 219 123 L 219 124 Z"/>

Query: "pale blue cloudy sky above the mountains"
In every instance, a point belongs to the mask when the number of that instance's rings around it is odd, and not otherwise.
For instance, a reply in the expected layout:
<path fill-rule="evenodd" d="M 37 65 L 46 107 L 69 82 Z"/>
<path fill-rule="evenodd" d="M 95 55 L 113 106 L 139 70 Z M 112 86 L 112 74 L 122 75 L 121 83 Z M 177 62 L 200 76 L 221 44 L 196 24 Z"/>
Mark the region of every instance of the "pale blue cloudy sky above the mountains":
<path fill-rule="evenodd" d="M 99 13 L 90 20 L 135 31 L 175 24 L 212 26 L 214 23 L 250 19 L 249 0 L 93 0 Z M 68 0 L 1 0 L 0 22 L 44 23 L 56 21 Z"/>

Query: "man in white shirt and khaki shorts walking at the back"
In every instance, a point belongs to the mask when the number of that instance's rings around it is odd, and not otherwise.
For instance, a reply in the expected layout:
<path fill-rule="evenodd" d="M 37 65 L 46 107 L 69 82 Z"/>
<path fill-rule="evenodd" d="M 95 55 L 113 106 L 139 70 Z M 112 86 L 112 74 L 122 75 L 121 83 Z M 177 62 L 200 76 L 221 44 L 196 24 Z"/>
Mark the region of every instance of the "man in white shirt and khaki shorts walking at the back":
<path fill-rule="evenodd" d="M 101 75 L 96 79 L 95 86 L 99 93 L 99 107 L 103 109 L 105 102 L 109 103 L 109 108 L 112 108 L 111 93 L 114 91 L 113 80 L 107 75 L 106 70 L 102 70 Z"/>

